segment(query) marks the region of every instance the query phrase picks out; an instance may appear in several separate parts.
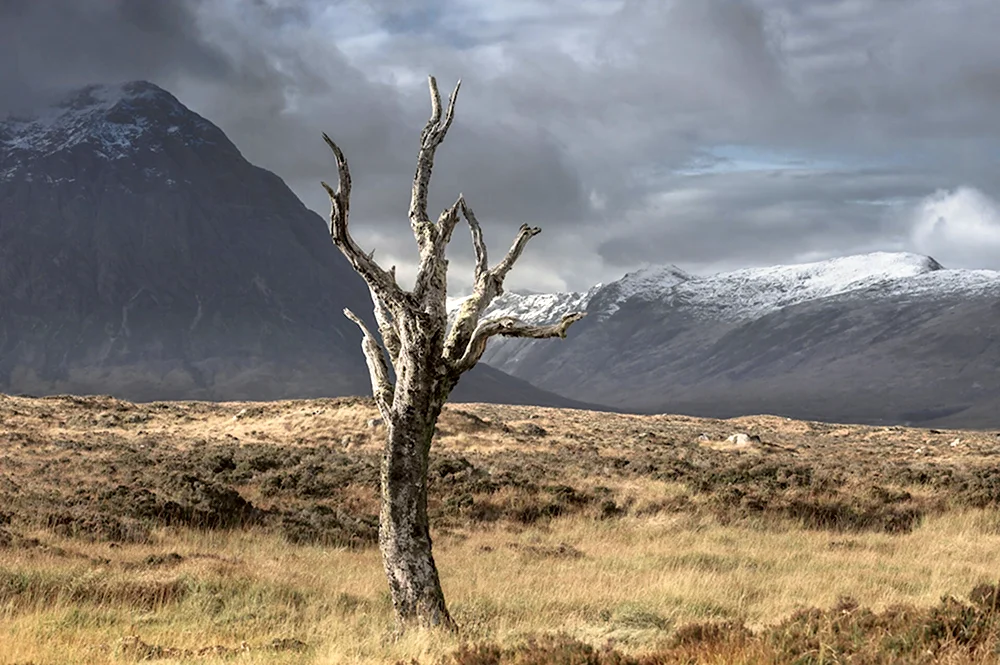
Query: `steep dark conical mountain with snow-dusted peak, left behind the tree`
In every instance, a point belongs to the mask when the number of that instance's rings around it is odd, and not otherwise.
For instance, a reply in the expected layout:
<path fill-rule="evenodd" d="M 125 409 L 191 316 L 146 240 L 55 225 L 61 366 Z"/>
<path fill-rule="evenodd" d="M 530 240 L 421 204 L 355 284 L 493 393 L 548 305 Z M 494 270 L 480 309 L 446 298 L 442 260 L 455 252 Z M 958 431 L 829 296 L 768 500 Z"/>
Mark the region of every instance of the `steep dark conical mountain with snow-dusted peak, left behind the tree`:
<path fill-rule="evenodd" d="M 367 393 L 367 288 L 323 219 L 153 84 L 0 122 L 0 391 Z M 573 403 L 490 368 L 466 400 Z"/>

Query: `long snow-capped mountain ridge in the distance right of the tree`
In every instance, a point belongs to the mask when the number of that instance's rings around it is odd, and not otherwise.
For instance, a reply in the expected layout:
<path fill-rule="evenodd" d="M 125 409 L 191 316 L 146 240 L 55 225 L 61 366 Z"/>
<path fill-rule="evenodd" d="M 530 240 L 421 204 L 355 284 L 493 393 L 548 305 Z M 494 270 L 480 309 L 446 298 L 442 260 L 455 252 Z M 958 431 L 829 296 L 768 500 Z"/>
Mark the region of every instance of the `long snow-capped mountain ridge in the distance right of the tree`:
<path fill-rule="evenodd" d="M 508 294 L 489 315 L 586 307 L 565 344 L 484 360 L 646 412 L 1000 427 L 1000 273 L 876 253 L 692 277 L 653 268 L 588 294 Z"/>

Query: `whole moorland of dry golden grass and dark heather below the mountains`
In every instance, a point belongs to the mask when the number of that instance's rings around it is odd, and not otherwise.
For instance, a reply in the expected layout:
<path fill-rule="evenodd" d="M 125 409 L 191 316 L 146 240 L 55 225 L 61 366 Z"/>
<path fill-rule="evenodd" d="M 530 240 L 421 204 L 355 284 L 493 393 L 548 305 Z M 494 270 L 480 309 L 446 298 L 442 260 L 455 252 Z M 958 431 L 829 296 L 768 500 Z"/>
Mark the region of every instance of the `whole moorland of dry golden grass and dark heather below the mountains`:
<path fill-rule="evenodd" d="M 0 396 L 0 665 L 1000 662 L 995 433 L 449 406 L 394 639 L 375 416 Z"/>

